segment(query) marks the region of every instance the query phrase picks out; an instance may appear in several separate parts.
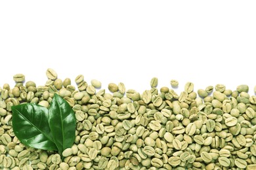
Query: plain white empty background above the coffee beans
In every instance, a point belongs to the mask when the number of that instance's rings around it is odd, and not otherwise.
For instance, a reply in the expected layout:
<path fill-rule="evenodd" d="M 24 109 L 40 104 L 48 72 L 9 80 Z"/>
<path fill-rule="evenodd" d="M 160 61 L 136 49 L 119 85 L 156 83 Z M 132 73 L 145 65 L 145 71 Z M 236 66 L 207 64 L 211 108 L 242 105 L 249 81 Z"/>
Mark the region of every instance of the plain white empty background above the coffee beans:
<path fill-rule="evenodd" d="M 83 74 L 139 92 L 256 85 L 255 1 L 0 1 L 0 86 Z M 73 83 L 74 84 L 74 83 Z"/>

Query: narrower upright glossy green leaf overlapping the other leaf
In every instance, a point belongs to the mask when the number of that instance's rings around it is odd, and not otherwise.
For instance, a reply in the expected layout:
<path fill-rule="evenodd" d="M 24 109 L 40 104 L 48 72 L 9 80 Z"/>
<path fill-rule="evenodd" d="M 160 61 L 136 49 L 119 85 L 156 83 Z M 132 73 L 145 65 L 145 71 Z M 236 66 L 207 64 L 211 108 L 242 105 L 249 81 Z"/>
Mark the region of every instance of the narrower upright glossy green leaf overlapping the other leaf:
<path fill-rule="evenodd" d="M 68 102 L 54 94 L 49 108 L 49 125 L 58 152 L 70 148 L 75 141 L 75 114 Z"/>

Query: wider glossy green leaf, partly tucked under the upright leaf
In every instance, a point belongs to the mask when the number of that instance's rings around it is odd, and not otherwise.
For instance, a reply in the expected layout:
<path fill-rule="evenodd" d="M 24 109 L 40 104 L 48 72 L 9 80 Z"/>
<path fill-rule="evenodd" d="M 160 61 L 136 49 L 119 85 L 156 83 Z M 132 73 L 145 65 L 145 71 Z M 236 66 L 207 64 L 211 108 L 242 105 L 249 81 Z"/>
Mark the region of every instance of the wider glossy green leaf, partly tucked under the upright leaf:
<path fill-rule="evenodd" d="M 26 146 L 57 150 L 49 127 L 48 109 L 45 107 L 35 103 L 13 106 L 12 129 Z"/>

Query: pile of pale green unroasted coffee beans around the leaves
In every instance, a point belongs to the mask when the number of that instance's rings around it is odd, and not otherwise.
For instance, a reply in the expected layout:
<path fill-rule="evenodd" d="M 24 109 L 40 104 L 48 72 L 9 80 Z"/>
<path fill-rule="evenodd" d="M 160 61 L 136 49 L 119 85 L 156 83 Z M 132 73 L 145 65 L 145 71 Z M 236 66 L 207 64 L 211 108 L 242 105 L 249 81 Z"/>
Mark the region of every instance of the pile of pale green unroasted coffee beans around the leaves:
<path fill-rule="evenodd" d="M 16 86 L 0 88 L 1 169 L 256 169 L 256 96 L 247 85 L 228 90 L 223 84 L 194 92 L 194 84 L 160 91 L 158 78 L 139 93 L 123 83 L 108 84 L 112 93 L 88 84 L 83 75 L 60 80 L 53 69 L 36 86 L 14 75 Z M 172 88 L 171 88 L 172 87 Z M 214 92 L 213 92 L 214 91 Z M 49 107 L 58 93 L 77 119 L 74 145 L 62 152 L 24 146 L 12 131 L 12 105 Z"/>

